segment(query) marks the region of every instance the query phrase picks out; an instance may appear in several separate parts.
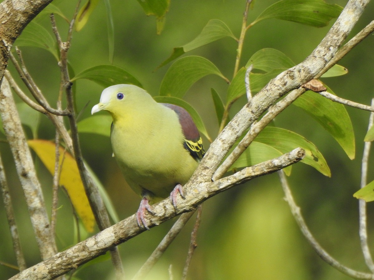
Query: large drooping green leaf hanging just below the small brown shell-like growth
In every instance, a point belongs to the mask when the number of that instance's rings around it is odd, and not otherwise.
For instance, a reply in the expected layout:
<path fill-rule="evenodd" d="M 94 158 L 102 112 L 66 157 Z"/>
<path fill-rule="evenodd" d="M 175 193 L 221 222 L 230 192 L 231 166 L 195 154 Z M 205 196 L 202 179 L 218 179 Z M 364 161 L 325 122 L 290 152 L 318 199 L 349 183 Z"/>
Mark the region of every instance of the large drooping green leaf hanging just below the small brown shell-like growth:
<path fill-rule="evenodd" d="M 328 87 L 327 91 L 333 94 Z M 340 144 L 350 159 L 355 158 L 355 135 L 352 122 L 343 104 L 333 102 L 313 91 L 307 91 L 293 104 L 304 109 L 321 124 Z"/>

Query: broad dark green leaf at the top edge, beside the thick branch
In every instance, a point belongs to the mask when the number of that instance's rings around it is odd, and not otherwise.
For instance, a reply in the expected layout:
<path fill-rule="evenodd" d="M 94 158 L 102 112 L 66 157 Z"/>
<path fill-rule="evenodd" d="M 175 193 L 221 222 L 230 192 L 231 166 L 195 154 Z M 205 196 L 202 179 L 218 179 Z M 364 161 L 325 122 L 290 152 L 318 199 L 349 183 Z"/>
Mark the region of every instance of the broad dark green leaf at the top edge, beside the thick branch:
<path fill-rule="evenodd" d="M 251 25 L 263 19 L 276 18 L 324 27 L 331 19 L 337 18 L 342 10 L 342 7 L 323 0 L 281 0 L 264 10 Z"/>

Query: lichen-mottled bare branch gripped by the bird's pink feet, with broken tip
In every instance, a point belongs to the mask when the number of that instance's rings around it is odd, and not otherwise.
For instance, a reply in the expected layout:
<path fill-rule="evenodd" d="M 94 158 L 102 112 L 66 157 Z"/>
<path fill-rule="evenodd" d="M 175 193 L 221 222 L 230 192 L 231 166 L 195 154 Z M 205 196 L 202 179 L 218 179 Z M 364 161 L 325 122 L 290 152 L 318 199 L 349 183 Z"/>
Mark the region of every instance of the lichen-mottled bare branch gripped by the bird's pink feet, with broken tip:
<path fill-rule="evenodd" d="M 247 167 L 242 171 L 215 182 L 208 180 L 199 184 L 187 184 L 187 188 L 185 189 L 186 199 L 178 201 L 178 209 L 175 210 L 170 199 L 166 198 L 153 205 L 152 211 L 154 211 L 155 215 L 147 215 L 147 224 L 150 227 L 154 227 L 183 212 L 193 211 L 197 205 L 217 193 L 261 175 L 278 171 L 300 161 L 304 156 L 305 151 L 298 148 L 270 161 Z M 105 230 L 100 231 L 95 236 L 78 243 L 64 252 L 59 252 L 52 258 L 27 268 L 13 276 L 11 280 L 53 279 L 105 253 L 110 248 L 137 236 L 143 231 L 145 231 L 145 228 L 138 226 L 136 214 L 134 214 L 109 228 L 105 228 Z"/>

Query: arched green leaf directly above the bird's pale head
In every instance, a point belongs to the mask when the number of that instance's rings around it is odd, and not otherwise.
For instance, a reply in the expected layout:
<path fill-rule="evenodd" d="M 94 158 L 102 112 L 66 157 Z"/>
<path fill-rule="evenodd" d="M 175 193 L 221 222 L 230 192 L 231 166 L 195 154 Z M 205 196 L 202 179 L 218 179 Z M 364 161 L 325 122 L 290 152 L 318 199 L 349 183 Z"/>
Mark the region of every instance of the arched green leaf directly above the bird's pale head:
<path fill-rule="evenodd" d="M 86 69 L 76 75 L 71 81 L 78 79 L 87 79 L 94 81 L 104 87 L 115 84 L 132 84 L 142 87 L 141 83 L 129 72 L 114 65 L 98 65 Z"/>

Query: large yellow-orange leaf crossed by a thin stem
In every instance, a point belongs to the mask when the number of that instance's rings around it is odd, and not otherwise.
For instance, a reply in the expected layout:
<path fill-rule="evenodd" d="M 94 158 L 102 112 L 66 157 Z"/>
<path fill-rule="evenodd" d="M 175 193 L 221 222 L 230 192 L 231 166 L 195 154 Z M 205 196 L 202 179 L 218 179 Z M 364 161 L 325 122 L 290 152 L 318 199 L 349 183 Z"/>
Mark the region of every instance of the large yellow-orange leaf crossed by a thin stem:
<path fill-rule="evenodd" d="M 28 145 L 36 152 L 40 160 L 43 162 L 45 167 L 48 169 L 50 174 L 55 172 L 55 143 L 47 140 L 28 140 Z M 62 163 L 61 174 L 59 185 L 64 186 L 66 189 L 71 203 L 82 219 L 83 224 L 87 231 L 92 232 L 95 225 L 95 217 L 93 216 L 91 206 L 89 205 L 85 189 L 80 179 L 79 170 L 75 159 L 66 152 L 64 154 L 64 148 L 59 147 L 60 159 L 59 165 Z"/>

